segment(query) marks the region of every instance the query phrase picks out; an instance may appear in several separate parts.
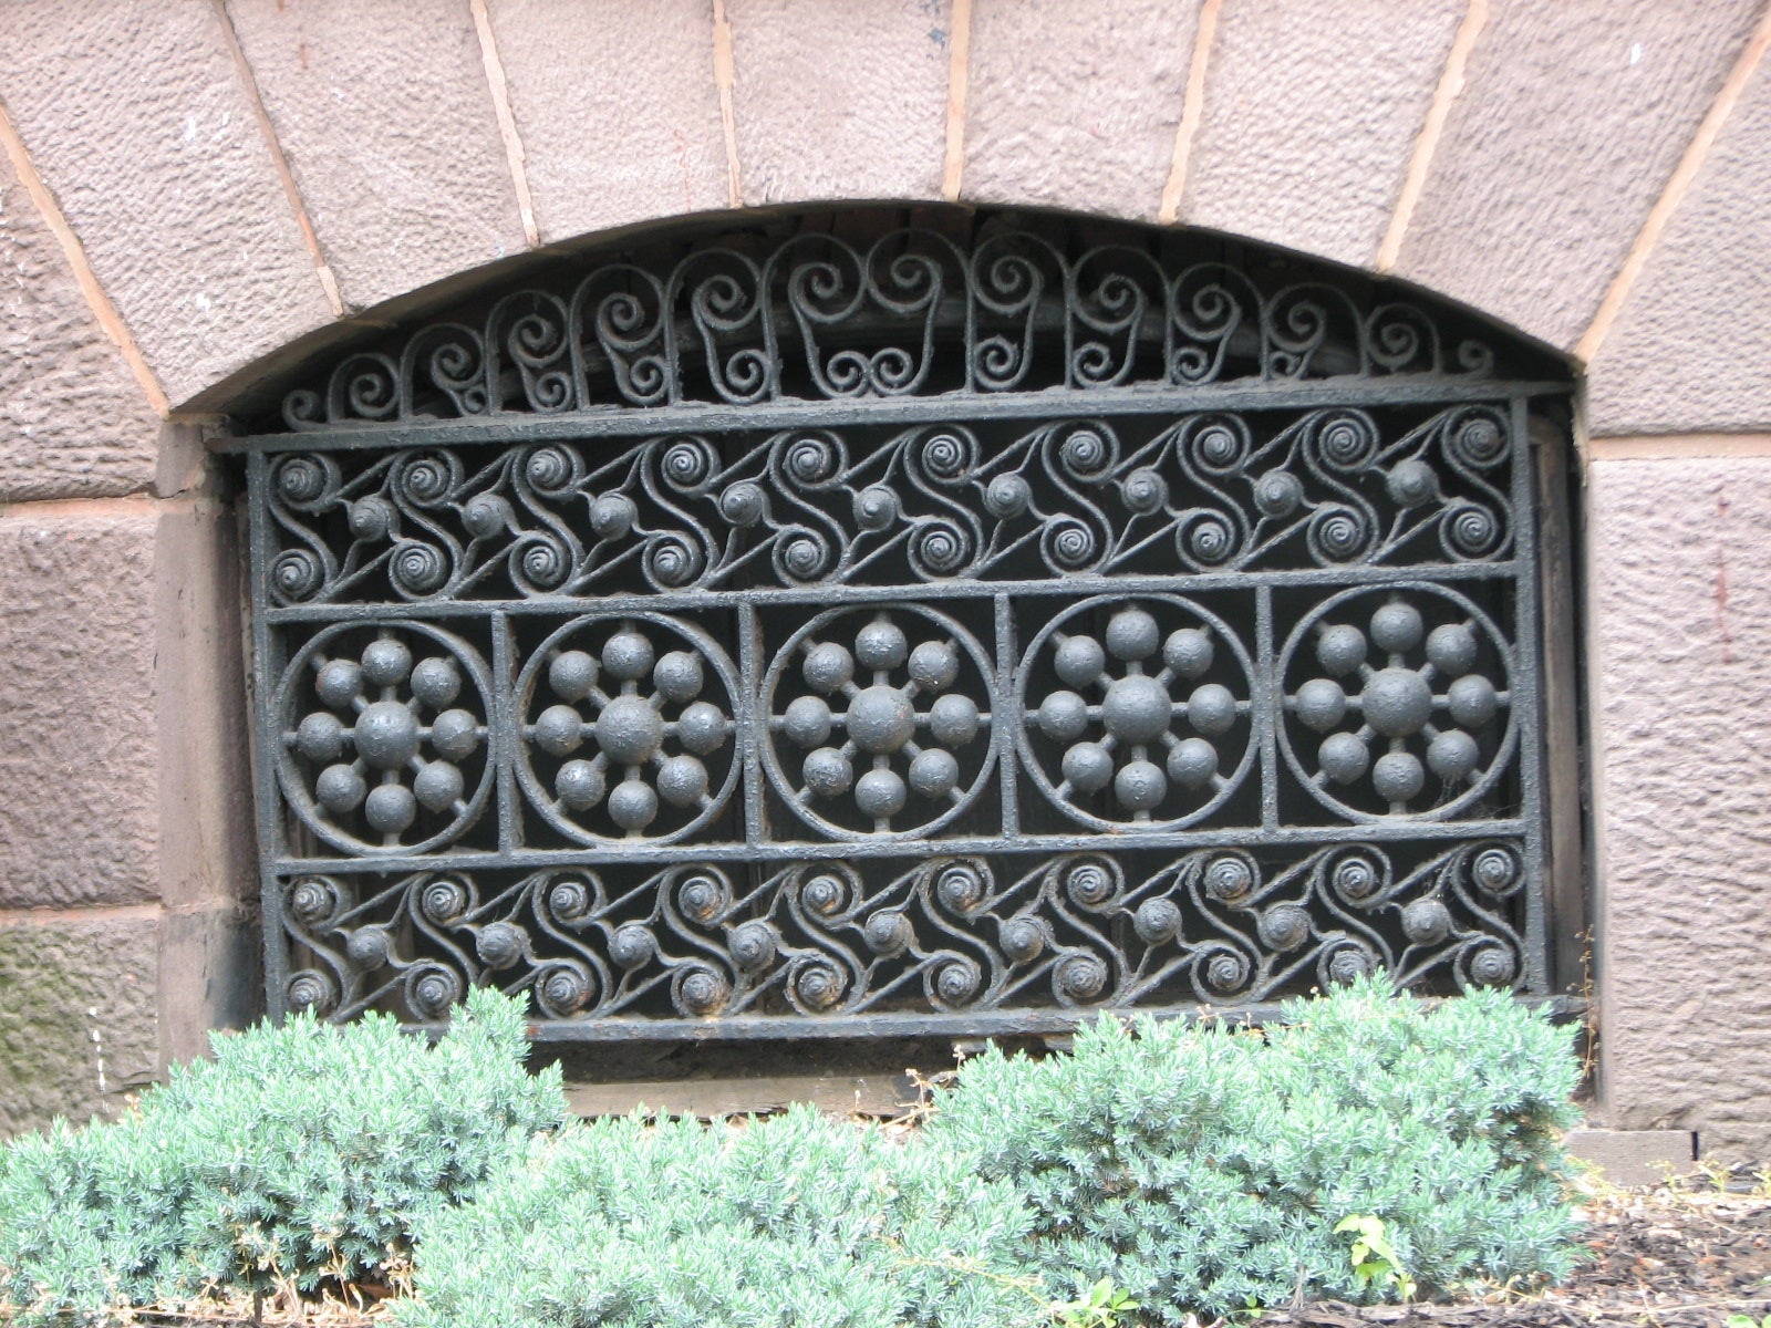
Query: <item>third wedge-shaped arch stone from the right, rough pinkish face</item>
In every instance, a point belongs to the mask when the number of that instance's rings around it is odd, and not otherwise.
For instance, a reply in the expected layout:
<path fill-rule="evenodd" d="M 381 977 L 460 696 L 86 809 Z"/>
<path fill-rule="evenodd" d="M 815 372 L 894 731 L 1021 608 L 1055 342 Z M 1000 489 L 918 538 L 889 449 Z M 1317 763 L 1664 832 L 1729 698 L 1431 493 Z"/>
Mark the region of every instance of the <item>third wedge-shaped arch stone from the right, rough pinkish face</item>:
<path fill-rule="evenodd" d="M 976 0 L 965 198 L 1153 220 L 1197 21 L 1197 0 Z"/>

